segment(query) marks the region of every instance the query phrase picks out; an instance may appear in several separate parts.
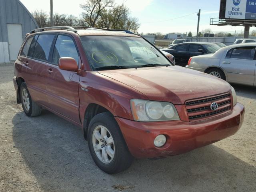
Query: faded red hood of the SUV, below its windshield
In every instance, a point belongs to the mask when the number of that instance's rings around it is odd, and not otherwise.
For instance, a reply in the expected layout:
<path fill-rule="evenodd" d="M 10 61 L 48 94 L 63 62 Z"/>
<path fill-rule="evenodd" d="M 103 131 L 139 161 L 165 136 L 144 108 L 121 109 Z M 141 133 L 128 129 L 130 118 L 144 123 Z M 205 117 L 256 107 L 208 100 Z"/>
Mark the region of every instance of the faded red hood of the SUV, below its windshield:
<path fill-rule="evenodd" d="M 230 85 L 209 74 L 181 66 L 98 71 L 122 82 L 149 100 L 184 104 L 186 100 L 230 92 Z"/>

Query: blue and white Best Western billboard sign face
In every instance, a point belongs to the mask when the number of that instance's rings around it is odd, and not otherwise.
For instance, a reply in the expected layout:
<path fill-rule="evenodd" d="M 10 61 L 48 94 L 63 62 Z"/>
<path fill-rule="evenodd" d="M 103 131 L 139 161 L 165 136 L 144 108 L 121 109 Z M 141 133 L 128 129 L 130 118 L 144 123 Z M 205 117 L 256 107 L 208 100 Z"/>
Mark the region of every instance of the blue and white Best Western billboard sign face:
<path fill-rule="evenodd" d="M 227 0 L 225 17 L 256 20 L 256 0 Z"/>

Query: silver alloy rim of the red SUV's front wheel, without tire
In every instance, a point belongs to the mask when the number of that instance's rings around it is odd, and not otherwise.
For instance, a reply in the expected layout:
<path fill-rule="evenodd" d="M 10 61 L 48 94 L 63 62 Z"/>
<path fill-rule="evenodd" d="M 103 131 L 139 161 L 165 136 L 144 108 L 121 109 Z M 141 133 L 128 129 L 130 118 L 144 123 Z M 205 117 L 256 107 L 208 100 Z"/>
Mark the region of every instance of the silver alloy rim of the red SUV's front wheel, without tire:
<path fill-rule="evenodd" d="M 98 159 L 105 164 L 112 162 L 115 155 L 115 145 L 109 130 L 98 125 L 92 133 L 92 145 Z"/>

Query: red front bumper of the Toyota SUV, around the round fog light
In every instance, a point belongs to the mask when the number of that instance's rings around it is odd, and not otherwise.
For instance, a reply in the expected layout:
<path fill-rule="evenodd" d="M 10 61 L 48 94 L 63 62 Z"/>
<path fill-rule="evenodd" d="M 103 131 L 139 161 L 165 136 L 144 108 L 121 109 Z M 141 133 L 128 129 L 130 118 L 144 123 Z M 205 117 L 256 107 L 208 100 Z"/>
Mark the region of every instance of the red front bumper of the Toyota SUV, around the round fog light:
<path fill-rule="evenodd" d="M 126 144 L 136 158 L 157 158 L 182 154 L 234 135 L 242 126 L 244 106 L 237 103 L 231 112 L 197 122 L 136 122 L 116 117 Z M 158 148 L 154 139 L 164 134 L 167 142 Z"/>

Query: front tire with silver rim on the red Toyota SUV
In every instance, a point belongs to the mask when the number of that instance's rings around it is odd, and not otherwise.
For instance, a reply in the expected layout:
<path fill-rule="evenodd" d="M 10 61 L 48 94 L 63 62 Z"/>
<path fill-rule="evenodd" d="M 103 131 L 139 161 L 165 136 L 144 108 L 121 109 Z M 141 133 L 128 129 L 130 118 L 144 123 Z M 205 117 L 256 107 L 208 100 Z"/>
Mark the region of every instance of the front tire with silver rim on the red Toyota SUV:
<path fill-rule="evenodd" d="M 109 139 L 111 137 L 112 140 Z M 126 170 L 134 160 L 126 146 L 120 128 L 110 112 L 97 114 L 90 121 L 88 146 L 96 165 L 108 174 Z"/>

